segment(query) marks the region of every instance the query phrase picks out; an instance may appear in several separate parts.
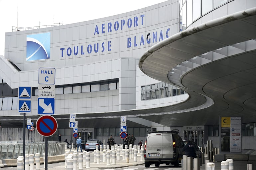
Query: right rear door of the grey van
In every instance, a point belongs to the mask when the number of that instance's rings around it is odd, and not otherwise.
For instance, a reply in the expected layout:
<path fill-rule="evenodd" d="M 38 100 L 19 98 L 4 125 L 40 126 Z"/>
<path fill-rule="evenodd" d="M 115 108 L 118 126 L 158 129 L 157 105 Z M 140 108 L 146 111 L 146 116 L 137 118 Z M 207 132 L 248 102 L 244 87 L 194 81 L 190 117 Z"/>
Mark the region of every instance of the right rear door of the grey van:
<path fill-rule="evenodd" d="M 171 133 L 162 134 L 162 158 L 173 158 L 173 139 Z"/>

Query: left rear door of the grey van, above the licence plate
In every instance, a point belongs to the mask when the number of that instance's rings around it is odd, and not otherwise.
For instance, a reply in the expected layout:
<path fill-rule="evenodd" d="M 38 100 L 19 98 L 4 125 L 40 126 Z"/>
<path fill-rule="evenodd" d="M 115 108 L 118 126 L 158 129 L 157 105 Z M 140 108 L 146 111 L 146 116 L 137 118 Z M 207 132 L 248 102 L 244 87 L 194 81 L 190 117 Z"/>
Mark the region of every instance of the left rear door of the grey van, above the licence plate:
<path fill-rule="evenodd" d="M 161 159 L 162 158 L 162 133 L 152 133 L 148 135 L 147 140 L 147 154 L 149 159 Z"/>

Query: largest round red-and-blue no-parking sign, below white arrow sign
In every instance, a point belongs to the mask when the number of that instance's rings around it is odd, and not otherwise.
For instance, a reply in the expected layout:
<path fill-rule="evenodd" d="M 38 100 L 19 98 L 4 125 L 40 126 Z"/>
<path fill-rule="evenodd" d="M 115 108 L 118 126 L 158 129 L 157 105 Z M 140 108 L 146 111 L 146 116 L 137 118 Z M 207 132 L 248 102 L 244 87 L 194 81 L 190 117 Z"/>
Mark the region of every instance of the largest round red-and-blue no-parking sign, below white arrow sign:
<path fill-rule="evenodd" d="M 49 137 L 58 129 L 57 120 L 51 115 L 44 115 L 37 119 L 37 131 L 40 135 Z"/>

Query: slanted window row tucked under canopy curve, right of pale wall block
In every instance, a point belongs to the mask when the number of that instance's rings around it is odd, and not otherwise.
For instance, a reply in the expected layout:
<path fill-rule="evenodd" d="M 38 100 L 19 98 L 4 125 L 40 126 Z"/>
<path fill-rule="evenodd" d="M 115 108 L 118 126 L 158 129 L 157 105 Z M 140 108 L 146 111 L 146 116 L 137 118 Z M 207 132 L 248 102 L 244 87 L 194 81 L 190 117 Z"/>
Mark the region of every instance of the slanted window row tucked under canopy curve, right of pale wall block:
<path fill-rule="evenodd" d="M 141 100 L 151 100 L 157 98 L 171 97 L 186 92 L 178 87 L 167 83 L 156 83 L 152 85 L 141 86 Z"/>

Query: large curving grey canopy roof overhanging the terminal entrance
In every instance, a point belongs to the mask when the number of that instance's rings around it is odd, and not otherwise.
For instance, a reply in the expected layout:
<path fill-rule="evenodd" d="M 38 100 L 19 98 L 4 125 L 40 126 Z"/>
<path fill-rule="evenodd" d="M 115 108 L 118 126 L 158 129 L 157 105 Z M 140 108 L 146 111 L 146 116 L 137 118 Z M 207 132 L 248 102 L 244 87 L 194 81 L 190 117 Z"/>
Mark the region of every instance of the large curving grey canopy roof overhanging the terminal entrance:
<path fill-rule="evenodd" d="M 218 125 L 219 116 L 256 122 L 255 30 L 254 7 L 188 28 L 146 51 L 142 72 L 184 89 L 190 99 L 175 105 L 176 113 L 145 119 L 166 126 Z"/>

